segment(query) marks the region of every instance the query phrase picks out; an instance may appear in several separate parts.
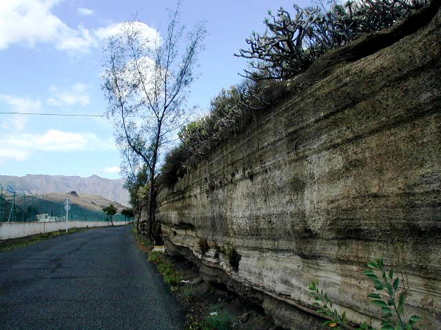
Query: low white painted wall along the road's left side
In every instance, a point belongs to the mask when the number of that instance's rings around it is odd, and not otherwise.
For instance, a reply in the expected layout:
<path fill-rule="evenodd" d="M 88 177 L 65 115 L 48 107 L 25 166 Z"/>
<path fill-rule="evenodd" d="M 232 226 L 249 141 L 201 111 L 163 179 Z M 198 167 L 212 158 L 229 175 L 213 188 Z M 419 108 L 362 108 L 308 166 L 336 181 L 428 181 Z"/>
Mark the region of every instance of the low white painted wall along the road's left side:
<path fill-rule="evenodd" d="M 114 225 L 126 225 L 125 221 L 114 221 Z M 110 221 L 69 221 L 68 228 L 103 227 L 112 225 Z M 17 237 L 65 230 L 65 221 L 55 222 L 0 222 L 0 241 Z"/>

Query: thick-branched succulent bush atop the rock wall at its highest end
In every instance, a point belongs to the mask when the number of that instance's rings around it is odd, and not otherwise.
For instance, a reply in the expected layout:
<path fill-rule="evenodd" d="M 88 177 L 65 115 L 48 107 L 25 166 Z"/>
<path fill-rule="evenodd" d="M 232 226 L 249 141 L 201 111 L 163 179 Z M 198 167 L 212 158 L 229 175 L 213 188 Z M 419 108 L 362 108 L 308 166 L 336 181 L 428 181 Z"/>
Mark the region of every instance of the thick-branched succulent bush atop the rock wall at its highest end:
<path fill-rule="evenodd" d="M 236 56 L 249 58 L 245 76 L 254 80 L 285 80 L 304 72 L 328 50 L 359 36 L 393 25 L 427 0 L 358 0 L 335 3 L 328 11 L 294 5 L 291 15 L 280 8 L 268 12 L 265 33 L 245 40 L 249 49 Z"/>

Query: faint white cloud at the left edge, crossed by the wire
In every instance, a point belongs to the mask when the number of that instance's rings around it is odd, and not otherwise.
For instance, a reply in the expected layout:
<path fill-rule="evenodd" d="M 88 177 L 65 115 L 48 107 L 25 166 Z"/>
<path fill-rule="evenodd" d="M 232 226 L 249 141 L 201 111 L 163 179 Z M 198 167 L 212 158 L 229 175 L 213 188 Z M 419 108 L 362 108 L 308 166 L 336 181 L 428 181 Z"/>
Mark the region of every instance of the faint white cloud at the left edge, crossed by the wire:
<path fill-rule="evenodd" d="M 32 113 L 39 112 L 41 109 L 41 102 L 39 100 L 31 100 L 30 98 L 0 94 L 0 101 L 10 106 L 11 112 Z M 28 121 L 29 118 L 25 115 L 8 115 L 6 119 L 1 120 L 1 128 L 10 131 L 21 131 Z"/>

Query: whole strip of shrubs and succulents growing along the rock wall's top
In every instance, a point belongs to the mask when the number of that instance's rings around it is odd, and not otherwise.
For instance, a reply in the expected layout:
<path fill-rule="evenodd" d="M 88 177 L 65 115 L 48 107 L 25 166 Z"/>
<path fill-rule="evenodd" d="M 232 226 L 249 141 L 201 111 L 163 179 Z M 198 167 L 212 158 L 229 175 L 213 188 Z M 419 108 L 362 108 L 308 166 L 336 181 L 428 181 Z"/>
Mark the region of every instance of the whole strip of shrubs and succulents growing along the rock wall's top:
<path fill-rule="evenodd" d="M 181 144 L 165 158 L 158 181 L 172 188 L 188 168 L 242 131 L 258 111 L 283 99 L 291 84 L 287 79 L 304 72 L 322 54 L 393 25 L 427 1 L 357 0 L 334 3 L 327 11 L 294 5 L 292 16 L 283 8 L 276 15 L 269 12 L 265 34 L 253 33 L 246 40 L 249 50 L 236 54 L 251 60 L 245 70 L 249 79 L 220 91 L 209 114 L 181 130 Z"/>

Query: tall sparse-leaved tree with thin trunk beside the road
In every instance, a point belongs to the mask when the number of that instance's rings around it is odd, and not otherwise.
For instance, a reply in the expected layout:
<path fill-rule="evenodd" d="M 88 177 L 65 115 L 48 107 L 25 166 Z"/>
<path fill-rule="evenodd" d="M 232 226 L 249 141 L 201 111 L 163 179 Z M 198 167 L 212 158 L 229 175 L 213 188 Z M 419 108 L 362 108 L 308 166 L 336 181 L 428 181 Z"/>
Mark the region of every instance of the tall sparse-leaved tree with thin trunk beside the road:
<path fill-rule="evenodd" d="M 203 47 L 205 25 L 198 23 L 184 36 L 179 7 L 170 12 L 167 35 L 145 38 L 142 24 L 132 21 L 105 45 L 102 88 L 107 115 L 114 120 L 116 140 L 121 137 L 149 171 L 149 224 L 154 221 L 154 179 L 161 151 L 170 144 L 187 115 L 186 100 L 194 81 L 193 69 Z M 186 47 L 181 47 L 183 40 Z"/>

